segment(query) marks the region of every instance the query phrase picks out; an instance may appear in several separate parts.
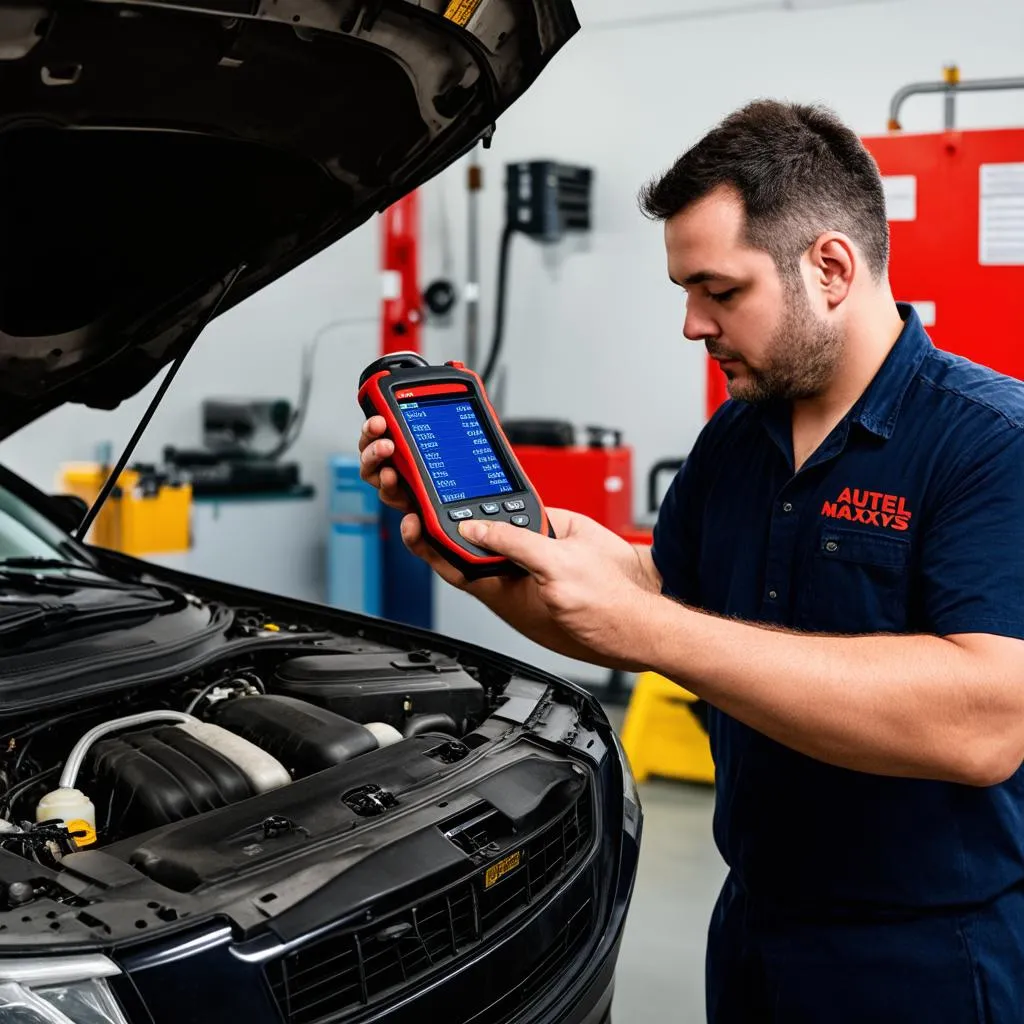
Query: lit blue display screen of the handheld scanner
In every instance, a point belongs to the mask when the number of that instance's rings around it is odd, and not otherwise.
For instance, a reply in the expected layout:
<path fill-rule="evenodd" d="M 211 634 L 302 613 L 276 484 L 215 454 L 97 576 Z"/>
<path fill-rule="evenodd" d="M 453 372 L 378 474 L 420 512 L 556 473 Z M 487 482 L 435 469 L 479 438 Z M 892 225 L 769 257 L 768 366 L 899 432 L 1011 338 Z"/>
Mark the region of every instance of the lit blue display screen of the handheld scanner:
<path fill-rule="evenodd" d="M 474 400 L 421 398 L 398 409 L 442 505 L 513 493 Z"/>

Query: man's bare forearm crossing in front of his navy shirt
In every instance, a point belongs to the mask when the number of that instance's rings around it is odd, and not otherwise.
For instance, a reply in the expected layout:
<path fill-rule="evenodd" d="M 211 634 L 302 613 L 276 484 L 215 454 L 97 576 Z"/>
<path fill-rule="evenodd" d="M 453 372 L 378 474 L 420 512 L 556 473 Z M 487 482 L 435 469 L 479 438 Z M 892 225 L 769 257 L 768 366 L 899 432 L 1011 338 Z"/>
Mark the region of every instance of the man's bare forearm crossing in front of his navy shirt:
<path fill-rule="evenodd" d="M 648 622 L 654 671 L 810 757 L 977 784 L 1013 770 L 1020 687 L 970 642 L 790 633 L 665 598 Z"/>

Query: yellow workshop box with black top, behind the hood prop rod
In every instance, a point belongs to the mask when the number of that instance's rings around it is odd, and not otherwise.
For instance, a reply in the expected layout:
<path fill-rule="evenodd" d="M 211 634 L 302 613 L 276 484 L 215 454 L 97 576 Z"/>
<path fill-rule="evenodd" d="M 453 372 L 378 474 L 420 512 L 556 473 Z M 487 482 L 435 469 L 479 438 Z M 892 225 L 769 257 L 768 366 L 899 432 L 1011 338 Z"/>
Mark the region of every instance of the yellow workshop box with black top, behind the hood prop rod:
<path fill-rule="evenodd" d="M 92 505 L 109 474 L 99 463 L 72 463 L 61 471 L 60 489 Z M 134 465 L 122 471 L 83 540 L 135 557 L 179 554 L 191 547 L 191 502 L 187 481 Z"/>

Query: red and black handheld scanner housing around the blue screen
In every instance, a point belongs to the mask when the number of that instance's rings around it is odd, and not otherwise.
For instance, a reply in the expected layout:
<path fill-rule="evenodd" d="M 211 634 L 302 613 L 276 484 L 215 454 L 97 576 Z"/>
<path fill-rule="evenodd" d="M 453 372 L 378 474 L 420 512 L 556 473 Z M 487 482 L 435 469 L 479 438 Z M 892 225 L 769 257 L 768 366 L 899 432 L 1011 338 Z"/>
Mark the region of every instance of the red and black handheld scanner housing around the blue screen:
<path fill-rule="evenodd" d="M 502 464 L 511 489 L 443 501 L 400 406 L 461 396 L 473 406 L 479 428 Z M 362 372 L 358 399 L 368 418 L 383 416 L 387 422 L 387 434 L 394 442 L 389 462 L 412 496 L 434 550 L 468 580 L 521 573 L 522 569 L 507 558 L 471 544 L 459 532 L 461 522 L 479 519 L 554 536 L 544 505 L 516 459 L 479 376 L 461 362 L 431 366 L 416 352 L 394 352 Z"/>

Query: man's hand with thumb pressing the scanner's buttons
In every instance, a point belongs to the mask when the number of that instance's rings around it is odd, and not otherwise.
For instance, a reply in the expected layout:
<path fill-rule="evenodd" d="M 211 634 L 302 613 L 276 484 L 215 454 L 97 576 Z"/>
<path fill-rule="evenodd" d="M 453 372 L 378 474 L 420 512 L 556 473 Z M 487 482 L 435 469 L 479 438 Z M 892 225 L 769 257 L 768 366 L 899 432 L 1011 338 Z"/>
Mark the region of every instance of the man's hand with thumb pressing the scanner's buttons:
<path fill-rule="evenodd" d="M 503 522 L 464 522 L 460 532 L 526 569 L 535 599 L 568 637 L 602 658 L 643 668 L 649 608 L 660 581 L 649 555 L 593 519 L 549 509 L 557 539 Z"/>

